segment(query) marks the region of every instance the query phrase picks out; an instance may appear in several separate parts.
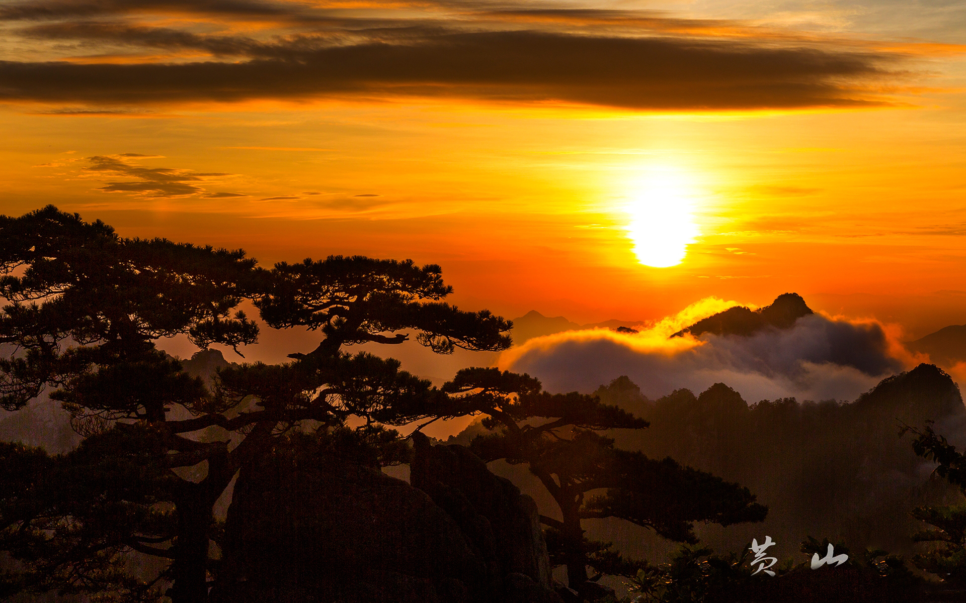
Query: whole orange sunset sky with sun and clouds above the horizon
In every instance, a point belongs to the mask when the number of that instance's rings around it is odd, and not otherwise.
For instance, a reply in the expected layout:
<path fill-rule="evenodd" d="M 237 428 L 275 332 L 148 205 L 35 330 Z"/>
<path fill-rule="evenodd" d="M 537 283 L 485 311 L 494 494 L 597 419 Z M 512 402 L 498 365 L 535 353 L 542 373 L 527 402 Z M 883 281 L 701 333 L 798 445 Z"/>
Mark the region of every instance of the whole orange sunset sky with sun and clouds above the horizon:
<path fill-rule="evenodd" d="M 961 2 L 11 0 L 0 28 L 8 215 L 440 263 L 506 317 L 797 291 L 966 322 Z"/>

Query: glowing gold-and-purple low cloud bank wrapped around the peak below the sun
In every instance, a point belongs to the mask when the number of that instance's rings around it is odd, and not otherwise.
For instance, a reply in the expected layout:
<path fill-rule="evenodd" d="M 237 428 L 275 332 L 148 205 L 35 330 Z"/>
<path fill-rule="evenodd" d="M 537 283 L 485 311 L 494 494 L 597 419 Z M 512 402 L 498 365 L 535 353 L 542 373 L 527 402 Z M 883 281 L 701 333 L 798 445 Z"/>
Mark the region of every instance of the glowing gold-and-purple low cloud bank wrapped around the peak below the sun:
<path fill-rule="evenodd" d="M 751 337 L 668 339 L 671 329 L 691 324 L 696 314 L 714 314 L 722 305 L 704 300 L 639 334 L 594 330 L 537 338 L 505 353 L 500 366 L 528 372 L 554 392 L 590 392 L 626 374 L 652 398 L 723 382 L 757 401 L 853 399 L 915 362 L 882 324 L 825 315 L 804 316 L 790 329 Z"/>

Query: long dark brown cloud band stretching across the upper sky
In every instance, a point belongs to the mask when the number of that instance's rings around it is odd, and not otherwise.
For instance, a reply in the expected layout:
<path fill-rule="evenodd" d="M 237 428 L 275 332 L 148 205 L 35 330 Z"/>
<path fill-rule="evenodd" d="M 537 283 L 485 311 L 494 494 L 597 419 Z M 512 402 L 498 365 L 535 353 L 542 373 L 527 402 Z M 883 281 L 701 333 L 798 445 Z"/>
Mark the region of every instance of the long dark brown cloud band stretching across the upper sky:
<path fill-rule="evenodd" d="M 283 50 L 287 56 L 278 58 Z M 883 65 L 895 60 L 810 47 L 535 31 L 451 33 L 405 43 L 321 48 L 306 48 L 302 42 L 249 43 L 241 51 L 255 58 L 131 65 L 0 62 L 0 98 L 137 105 L 461 96 L 635 109 L 840 107 L 882 104 L 867 86 L 892 76 Z"/>

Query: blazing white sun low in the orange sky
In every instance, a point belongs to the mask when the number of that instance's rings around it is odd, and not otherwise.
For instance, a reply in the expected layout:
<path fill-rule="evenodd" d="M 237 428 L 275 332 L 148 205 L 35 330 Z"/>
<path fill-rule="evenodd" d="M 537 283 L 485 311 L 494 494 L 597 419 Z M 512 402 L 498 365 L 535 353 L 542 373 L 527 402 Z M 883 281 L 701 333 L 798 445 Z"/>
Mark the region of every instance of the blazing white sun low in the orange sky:
<path fill-rule="evenodd" d="M 692 214 L 695 191 L 687 175 L 674 168 L 651 168 L 631 185 L 625 206 L 627 236 L 645 266 L 668 268 L 681 263 L 699 234 Z"/>

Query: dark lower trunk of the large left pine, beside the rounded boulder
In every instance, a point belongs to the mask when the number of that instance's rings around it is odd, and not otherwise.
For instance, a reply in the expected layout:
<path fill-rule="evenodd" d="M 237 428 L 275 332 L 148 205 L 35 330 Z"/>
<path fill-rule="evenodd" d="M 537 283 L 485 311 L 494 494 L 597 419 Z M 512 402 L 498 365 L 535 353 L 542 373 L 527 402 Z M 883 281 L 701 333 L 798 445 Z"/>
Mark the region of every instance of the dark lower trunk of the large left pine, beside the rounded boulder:
<path fill-rule="evenodd" d="M 192 488 L 193 490 L 193 488 Z M 178 541 L 174 546 L 172 565 L 174 586 L 167 594 L 174 603 L 206 603 L 208 601 L 208 546 L 212 526 L 212 506 L 189 492 L 178 501 Z"/>

